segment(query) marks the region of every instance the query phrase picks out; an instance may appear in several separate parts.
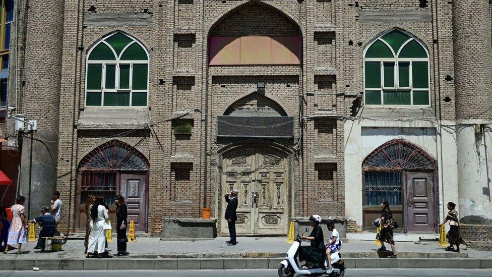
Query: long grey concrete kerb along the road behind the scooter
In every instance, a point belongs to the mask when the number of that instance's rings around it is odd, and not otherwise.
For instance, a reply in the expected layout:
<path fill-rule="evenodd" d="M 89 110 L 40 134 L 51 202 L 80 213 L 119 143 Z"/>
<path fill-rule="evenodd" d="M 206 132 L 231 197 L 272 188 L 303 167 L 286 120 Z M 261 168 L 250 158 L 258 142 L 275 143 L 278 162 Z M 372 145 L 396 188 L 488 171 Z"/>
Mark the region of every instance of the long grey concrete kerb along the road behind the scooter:
<path fill-rule="evenodd" d="M 16 259 L 0 258 L 2 270 L 106 269 L 267 269 L 278 268 L 283 258 L 106 258 Z M 492 259 L 472 258 L 343 258 L 351 268 L 492 268 Z M 0 271 L 1 272 L 1 271 Z"/>

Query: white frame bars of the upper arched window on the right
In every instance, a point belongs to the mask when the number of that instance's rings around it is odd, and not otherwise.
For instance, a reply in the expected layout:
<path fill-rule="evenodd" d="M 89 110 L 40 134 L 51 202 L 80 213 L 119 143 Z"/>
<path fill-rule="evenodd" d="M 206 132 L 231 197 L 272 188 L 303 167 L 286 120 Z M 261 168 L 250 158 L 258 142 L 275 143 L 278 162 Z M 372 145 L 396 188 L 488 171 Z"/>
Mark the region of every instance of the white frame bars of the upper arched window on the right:
<path fill-rule="evenodd" d="M 429 64 L 429 52 L 427 50 L 427 48 L 425 47 L 425 45 L 419 41 L 418 39 L 416 39 L 414 36 L 412 36 L 411 34 L 407 33 L 407 32 L 404 32 L 402 30 L 398 30 L 398 31 L 401 31 L 403 33 L 405 33 L 406 35 L 408 35 L 410 38 L 408 40 L 406 40 L 401 46 L 400 48 L 398 49 L 398 52 L 395 53 L 395 51 L 393 50 L 393 48 L 391 47 L 391 45 L 389 43 L 387 43 L 385 40 L 382 39 L 382 37 L 388 33 L 390 33 L 391 31 L 393 31 L 395 29 L 391 29 L 387 32 L 384 32 L 383 34 L 379 35 L 378 38 L 376 38 L 374 41 L 372 41 L 371 43 L 369 43 L 364 51 L 363 51 L 363 64 L 362 64 L 362 70 L 363 70 L 363 79 L 364 79 L 364 105 L 367 105 L 367 106 L 392 106 L 392 107 L 429 107 L 430 106 L 430 64 Z M 401 50 L 412 40 L 415 40 L 417 43 L 420 44 L 420 46 L 423 47 L 423 49 L 425 50 L 425 53 L 427 54 L 427 58 L 398 58 L 398 56 L 400 55 L 400 52 Z M 367 50 L 376 42 L 376 41 L 381 41 L 383 42 L 391 51 L 391 53 L 393 54 L 393 58 L 365 58 L 365 54 L 367 52 Z M 365 87 L 365 62 L 380 62 L 380 70 L 381 70 L 381 87 L 380 88 L 366 88 Z M 395 63 L 395 68 L 394 68 L 394 84 L 395 84 L 395 87 L 385 87 L 384 86 L 384 63 L 385 62 L 392 62 L 392 63 Z M 405 63 L 405 62 L 408 62 L 409 63 L 409 66 L 408 66 L 408 84 L 409 84 L 409 87 L 400 87 L 400 72 L 399 72 L 399 63 Z M 412 76 L 412 65 L 413 65 L 413 62 L 427 62 L 427 87 L 428 88 L 413 88 L 413 76 Z M 409 91 L 410 92 L 410 104 L 401 104 L 401 105 L 396 105 L 396 104 L 385 104 L 384 103 L 384 91 L 388 91 L 388 90 L 394 90 L 394 91 Z M 381 104 L 366 104 L 365 103 L 365 92 L 366 91 L 379 91 L 380 94 L 381 94 Z M 427 105 L 414 105 L 413 104 L 413 92 L 414 91 L 428 91 L 428 104 Z"/>

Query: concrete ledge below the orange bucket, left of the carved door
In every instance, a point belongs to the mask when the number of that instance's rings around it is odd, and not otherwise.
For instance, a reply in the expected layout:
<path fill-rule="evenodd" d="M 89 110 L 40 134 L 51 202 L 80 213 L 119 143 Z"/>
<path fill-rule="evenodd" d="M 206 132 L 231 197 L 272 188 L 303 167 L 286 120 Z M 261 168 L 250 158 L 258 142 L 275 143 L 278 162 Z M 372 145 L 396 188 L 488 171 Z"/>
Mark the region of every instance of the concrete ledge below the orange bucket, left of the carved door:
<path fill-rule="evenodd" d="M 162 218 L 161 239 L 213 239 L 217 237 L 217 218 Z"/>

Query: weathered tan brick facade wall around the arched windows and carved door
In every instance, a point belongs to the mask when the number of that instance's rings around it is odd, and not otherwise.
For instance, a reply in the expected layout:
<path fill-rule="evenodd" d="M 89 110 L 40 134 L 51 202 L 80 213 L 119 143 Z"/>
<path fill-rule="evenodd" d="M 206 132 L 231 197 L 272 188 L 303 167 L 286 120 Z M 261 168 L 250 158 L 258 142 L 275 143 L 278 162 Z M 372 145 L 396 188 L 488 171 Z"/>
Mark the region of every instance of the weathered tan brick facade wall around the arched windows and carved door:
<path fill-rule="evenodd" d="M 429 2 L 428 7 L 419 8 L 423 6 L 421 1 L 413 0 L 367 0 L 357 4 L 350 0 L 88 0 L 84 5 L 66 1 L 64 32 L 60 34 L 63 74 L 59 98 L 63 105 L 59 113 L 63 120 L 57 128 L 58 187 L 64 195 L 70 195 L 64 199 L 66 203 L 72 201 L 66 207 L 75 217 L 76 168 L 82 153 L 104 140 L 121 139 L 132 145 L 144 138 L 138 149 L 150 161 L 150 230 L 160 232 L 162 216 L 200 216 L 202 206 L 214 207 L 216 201 L 222 201 L 215 192 L 216 151 L 223 146 L 216 139 L 216 117 L 223 115 L 234 101 L 255 91 L 257 82 L 265 82 L 265 96 L 296 118 L 294 139 L 279 143 L 294 147 L 302 138 L 299 149 L 295 149 L 294 215 L 316 212 L 343 217 L 342 116 L 351 115 L 351 107 L 363 91 L 362 51 L 368 42 L 394 27 L 422 40 L 430 57 L 430 110 L 437 117 L 455 117 L 452 5 Z M 368 10 L 412 9 L 428 13 L 430 19 L 359 19 Z M 94 14 L 150 15 L 151 21 L 84 23 Z M 77 130 L 74 126 L 84 108 L 86 53 L 95 42 L 116 30 L 136 37 L 149 51 L 149 110 L 153 124 L 149 130 L 121 137 L 116 135 L 124 130 Z M 209 35 L 299 33 L 303 36 L 301 66 L 207 65 Z M 336 92 L 341 93 L 335 95 Z M 450 101 L 444 101 L 446 97 Z M 196 111 L 182 116 L 190 110 Z M 171 119 L 181 116 L 194 122 L 192 135 L 186 139 L 172 133 Z M 171 162 L 173 156 L 181 154 L 190 156 L 192 167 L 188 162 Z M 214 210 L 213 216 L 221 214 Z M 70 224 L 72 229 L 74 221 Z"/>

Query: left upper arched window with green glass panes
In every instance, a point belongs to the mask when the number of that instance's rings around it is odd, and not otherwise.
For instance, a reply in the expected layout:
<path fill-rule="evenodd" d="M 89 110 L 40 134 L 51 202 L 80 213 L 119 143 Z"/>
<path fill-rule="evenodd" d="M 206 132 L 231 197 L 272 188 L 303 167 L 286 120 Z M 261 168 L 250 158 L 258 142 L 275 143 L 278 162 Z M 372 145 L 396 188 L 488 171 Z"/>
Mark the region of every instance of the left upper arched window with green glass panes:
<path fill-rule="evenodd" d="M 147 106 L 149 54 L 135 38 L 116 32 L 87 54 L 86 106 Z"/>

